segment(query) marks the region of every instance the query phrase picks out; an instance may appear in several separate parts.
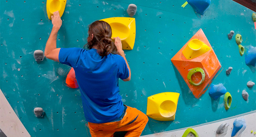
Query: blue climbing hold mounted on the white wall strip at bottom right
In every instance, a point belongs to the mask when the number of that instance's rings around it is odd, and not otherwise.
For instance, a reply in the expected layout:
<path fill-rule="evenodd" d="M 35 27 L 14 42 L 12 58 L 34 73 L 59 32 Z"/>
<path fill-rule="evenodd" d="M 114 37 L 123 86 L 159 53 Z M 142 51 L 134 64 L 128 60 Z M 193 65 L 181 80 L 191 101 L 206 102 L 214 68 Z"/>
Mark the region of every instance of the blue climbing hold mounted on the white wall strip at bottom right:
<path fill-rule="evenodd" d="M 233 131 L 232 131 L 232 134 L 231 134 L 231 137 L 234 137 L 237 132 L 237 137 L 239 137 L 239 135 L 245 130 L 246 128 L 246 123 L 245 123 L 245 120 L 244 118 L 242 119 L 236 119 L 233 123 L 234 125 L 234 128 L 233 128 Z"/>

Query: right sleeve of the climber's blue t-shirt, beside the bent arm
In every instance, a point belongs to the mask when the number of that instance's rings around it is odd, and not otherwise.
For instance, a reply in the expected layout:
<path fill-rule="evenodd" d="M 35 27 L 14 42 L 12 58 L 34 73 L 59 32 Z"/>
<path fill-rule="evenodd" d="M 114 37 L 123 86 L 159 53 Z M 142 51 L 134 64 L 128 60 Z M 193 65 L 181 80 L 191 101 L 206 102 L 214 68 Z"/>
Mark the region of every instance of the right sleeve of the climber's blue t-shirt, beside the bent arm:
<path fill-rule="evenodd" d="M 119 60 L 118 76 L 122 80 L 127 79 L 129 77 L 129 69 L 123 57 L 121 57 Z"/>

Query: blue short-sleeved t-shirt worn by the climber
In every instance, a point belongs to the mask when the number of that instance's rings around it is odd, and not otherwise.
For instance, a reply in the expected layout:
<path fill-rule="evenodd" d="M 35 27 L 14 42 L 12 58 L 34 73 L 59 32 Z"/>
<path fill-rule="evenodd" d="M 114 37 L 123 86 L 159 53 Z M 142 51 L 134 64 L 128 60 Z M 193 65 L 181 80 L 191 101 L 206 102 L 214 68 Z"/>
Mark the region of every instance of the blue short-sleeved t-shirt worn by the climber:
<path fill-rule="evenodd" d="M 96 49 L 61 48 L 59 61 L 75 70 L 84 116 L 91 123 L 106 123 L 121 117 L 124 106 L 118 94 L 118 78 L 127 79 L 129 70 L 117 54 L 99 56 Z"/>

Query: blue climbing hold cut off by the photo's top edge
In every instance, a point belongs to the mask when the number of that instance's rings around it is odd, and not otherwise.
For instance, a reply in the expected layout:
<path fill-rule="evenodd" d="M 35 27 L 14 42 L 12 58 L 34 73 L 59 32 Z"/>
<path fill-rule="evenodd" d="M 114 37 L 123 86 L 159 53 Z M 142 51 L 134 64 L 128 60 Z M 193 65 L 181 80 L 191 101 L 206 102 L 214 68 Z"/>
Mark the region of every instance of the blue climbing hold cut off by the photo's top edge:
<path fill-rule="evenodd" d="M 200 15 L 204 15 L 204 12 L 209 8 L 209 5 L 211 4 L 211 0 L 187 0 L 187 2 Z"/>

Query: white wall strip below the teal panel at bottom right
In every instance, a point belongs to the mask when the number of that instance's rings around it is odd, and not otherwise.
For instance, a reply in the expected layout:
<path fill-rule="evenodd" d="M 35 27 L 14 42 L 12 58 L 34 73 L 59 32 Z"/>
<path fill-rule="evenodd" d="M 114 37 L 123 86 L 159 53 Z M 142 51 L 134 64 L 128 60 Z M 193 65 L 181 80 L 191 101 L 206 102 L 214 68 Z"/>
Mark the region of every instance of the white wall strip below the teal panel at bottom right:
<path fill-rule="evenodd" d="M 244 132 L 241 133 L 240 137 L 256 137 L 256 134 L 251 133 L 251 130 L 253 130 L 253 132 L 256 132 L 256 111 L 251 111 L 249 113 L 240 114 L 218 121 L 208 122 L 187 128 L 193 128 L 194 130 L 196 130 L 200 137 L 231 137 L 231 133 L 233 130 L 233 122 L 237 118 L 244 118 L 246 121 L 246 128 Z M 216 134 L 216 130 L 222 123 L 229 123 L 229 127 L 226 133 L 224 132 L 224 134 L 218 135 Z M 142 137 L 181 137 L 187 128 L 172 130 L 168 132 L 155 133 L 145 135 Z M 237 137 L 237 135 L 234 137 Z"/>

